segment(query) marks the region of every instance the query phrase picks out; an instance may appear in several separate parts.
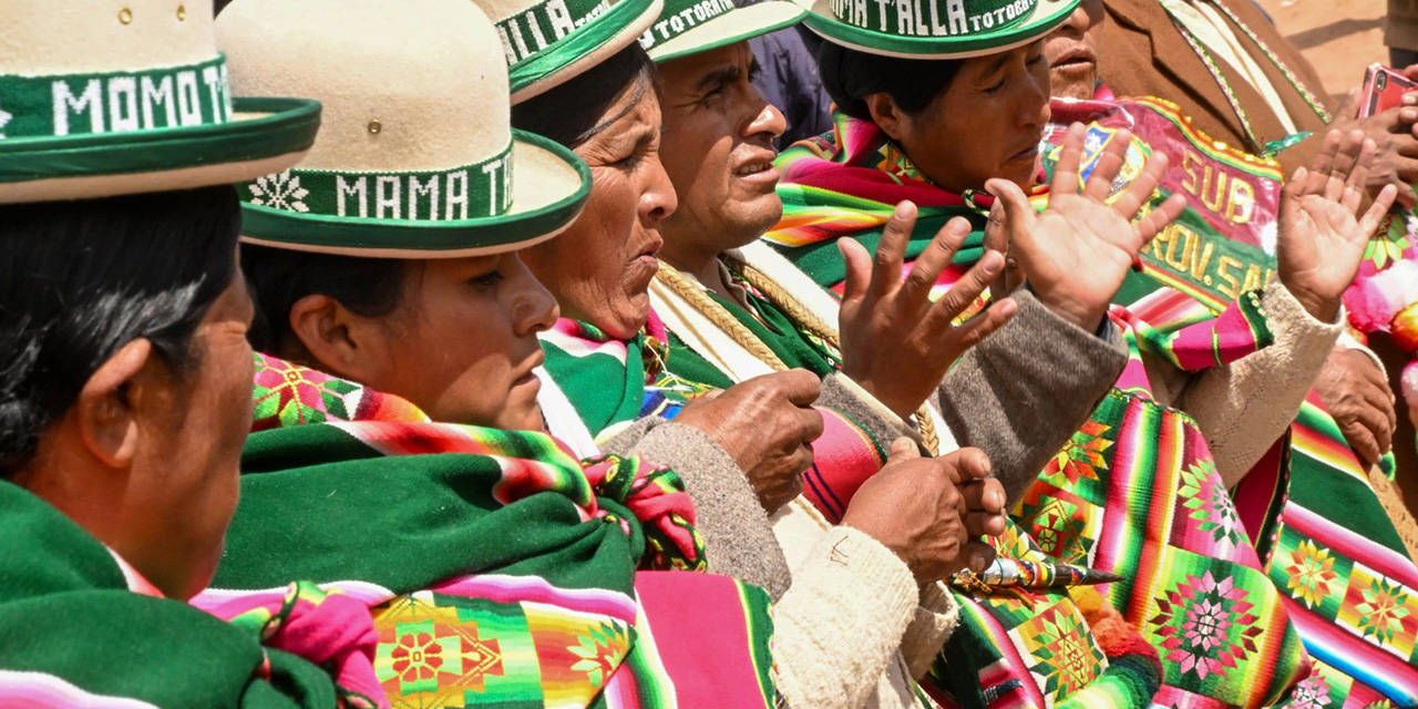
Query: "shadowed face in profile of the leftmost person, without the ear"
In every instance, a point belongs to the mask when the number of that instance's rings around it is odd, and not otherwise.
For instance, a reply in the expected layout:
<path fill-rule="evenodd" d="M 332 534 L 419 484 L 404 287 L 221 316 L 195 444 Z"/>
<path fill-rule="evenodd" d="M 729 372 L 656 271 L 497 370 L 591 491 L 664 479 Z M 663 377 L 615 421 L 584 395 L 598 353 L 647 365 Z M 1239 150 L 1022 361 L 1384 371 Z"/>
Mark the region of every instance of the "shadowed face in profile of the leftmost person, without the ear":
<path fill-rule="evenodd" d="M 197 326 L 194 367 L 146 389 L 153 406 L 135 420 L 142 435 L 125 491 L 125 529 L 106 539 L 173 598 L 211 583 L 237 510 L 255 376 L 247 345 L 252 308 L 240 274 Z"/>

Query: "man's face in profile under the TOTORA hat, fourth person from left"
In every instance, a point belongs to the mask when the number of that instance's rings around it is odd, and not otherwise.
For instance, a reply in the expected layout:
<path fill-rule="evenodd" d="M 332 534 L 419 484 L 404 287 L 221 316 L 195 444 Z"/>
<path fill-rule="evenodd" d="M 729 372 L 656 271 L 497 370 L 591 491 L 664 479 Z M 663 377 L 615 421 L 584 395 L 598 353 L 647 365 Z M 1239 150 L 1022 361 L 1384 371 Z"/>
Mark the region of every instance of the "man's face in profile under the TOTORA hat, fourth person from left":
<path fill-rule="evenodd" d="M 664 224 L 669 259 L 742 247 L 783 216 L 773 139 L 787 122 L 749 84 L 756 72 L 749 43 L 659 65 L 659 157 L 679 194 L 679 210 Z"/>

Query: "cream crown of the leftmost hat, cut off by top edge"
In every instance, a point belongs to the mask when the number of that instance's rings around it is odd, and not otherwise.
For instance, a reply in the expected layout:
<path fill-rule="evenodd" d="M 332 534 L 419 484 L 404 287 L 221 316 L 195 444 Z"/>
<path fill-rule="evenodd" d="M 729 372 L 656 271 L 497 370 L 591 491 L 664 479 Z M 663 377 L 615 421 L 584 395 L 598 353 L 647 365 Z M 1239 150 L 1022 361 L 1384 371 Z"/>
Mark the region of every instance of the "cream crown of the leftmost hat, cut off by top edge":
<path fill-rule="evenodd" d="M 0 75 L 111 74 L 217 57 L 211 0 L 0 0 Z"/>

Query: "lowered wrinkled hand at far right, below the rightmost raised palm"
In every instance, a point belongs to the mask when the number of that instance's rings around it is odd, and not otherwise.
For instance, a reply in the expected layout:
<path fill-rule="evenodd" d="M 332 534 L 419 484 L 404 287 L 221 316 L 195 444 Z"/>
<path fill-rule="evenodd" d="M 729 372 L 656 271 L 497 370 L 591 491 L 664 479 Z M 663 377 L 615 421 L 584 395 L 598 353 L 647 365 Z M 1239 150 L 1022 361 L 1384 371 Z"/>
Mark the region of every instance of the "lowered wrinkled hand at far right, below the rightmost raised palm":
<path fill-rule="evenodd" d="M 1314 389 L 1366 467 L 1392 448 L 1398 403 L 1384 373 L 1363 350 L 1334 347 L 1320 369 Z"/>

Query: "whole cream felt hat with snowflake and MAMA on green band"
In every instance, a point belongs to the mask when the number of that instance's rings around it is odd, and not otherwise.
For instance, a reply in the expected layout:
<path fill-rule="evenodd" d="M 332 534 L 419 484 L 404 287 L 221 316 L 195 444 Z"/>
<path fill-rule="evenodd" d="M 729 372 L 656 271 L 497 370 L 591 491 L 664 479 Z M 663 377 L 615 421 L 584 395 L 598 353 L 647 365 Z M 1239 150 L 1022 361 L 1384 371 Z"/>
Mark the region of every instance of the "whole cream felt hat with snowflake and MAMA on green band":
<path fill-rule="evenodd" d="M 556 235 L 590 194 L 570 150 L 512 130 L 502 43 L 468 0 L 237 0 L 217 37 L 237 95 L 325 104 L 296 169 L 240 186 L 247 241 L 495 254 Z"/>

